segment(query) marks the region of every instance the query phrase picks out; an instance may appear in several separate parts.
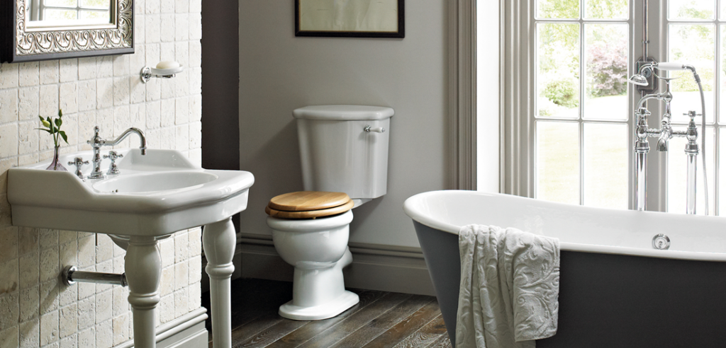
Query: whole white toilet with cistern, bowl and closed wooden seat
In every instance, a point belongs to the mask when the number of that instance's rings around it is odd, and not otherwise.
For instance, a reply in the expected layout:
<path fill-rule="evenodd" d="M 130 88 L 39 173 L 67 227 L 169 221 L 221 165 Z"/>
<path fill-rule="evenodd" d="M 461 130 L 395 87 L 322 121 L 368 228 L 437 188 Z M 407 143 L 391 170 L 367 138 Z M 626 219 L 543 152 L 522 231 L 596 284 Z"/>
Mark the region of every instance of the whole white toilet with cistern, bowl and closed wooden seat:
<path fill-rule="evenodd" d="M 358 303 L 343 268 L 351 209 L 386 194 L 389 107 L 319 105 L 295 109 L 303 188 L 270 200 L 265 211 L 274 247 L 295 267 L 293 299 L 280 315 L 332 318 Z"/>

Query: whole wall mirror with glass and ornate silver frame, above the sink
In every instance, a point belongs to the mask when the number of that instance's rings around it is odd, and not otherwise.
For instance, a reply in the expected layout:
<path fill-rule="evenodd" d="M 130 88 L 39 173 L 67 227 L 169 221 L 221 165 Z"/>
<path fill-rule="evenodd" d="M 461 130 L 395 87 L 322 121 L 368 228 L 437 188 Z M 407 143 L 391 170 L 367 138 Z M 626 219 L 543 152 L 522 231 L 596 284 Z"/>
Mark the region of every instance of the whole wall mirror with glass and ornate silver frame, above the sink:
<path fill-rule="evenodd" d="M 134 53 L 134 0 L 0 2 L 0 62 Z"/>

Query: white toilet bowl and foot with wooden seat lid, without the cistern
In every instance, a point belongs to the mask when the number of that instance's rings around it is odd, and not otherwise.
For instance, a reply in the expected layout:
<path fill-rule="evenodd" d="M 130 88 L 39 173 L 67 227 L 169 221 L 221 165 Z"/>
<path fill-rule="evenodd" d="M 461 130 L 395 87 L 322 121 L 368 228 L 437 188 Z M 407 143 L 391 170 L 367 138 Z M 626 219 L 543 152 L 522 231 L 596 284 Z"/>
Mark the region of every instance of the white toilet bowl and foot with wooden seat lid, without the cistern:
<path fill-rule="evenodd" d="M 331 194 L 346 200 L 340 199 L 342 204 L 337 204 L 321 199 Z M 298 205 L 288 204 L 285 208 L 290 210 L 280 210 L 276 202 L 290 196 L 306 198 L 298 199 Z M 274 197 L 266 207 L 274 247 L 282 260 L 295 268 L 293 299 L 280 306 L 282 317 L 327 319 L 358 303 L 358 295 L 347 291 L 343 283 L 343 268 L 353 260 L 348 250 L 352 206 L 343 193 L 293 192 Z"/>

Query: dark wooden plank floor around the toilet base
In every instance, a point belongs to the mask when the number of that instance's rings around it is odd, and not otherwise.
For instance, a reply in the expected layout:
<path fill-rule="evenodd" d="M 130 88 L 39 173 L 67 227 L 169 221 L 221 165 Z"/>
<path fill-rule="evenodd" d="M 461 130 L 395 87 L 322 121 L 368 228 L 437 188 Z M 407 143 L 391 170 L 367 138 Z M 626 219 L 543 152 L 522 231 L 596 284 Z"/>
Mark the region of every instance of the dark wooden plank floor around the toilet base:
<path fill-rule="evenodd" d="M 335 318 L 298 321 L 277 314 L 277 308 L 292 299 L 293 283 L 232 281 L 232 347 L 452 347 L 436 297 L 348 290 L 358 294 L 358 305 Z M 209 293 L 203 294 L 202 302 L 209 310 Z M 211 319 L 207 329 L 211 348 Z"/>

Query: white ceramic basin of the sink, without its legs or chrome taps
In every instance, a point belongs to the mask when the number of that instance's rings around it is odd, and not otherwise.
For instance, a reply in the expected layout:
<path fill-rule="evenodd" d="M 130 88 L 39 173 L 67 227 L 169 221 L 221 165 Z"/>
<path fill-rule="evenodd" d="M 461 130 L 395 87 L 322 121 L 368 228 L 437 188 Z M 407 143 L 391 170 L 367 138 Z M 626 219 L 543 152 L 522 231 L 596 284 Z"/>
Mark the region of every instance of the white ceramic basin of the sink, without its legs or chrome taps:
<path fill-rule="evenodd" d="M 102 151 L 105 153 L 106 151 Z M 173 150 L 118 149 L 121 174 L 81 181 L 66 165 L 91 152 L 61 156 L 68 172 L 45 170 L 49 161 L 11 168 L 8 201 L 17 226 L 111 233 L 123 236 L 163 236 L 215 223 L 245 210 L 252 173 L 206 170 Z M 101 168 L 110 162 L 104 159 Z M 83 176 L 91 165 L 82 168 Z"/>

